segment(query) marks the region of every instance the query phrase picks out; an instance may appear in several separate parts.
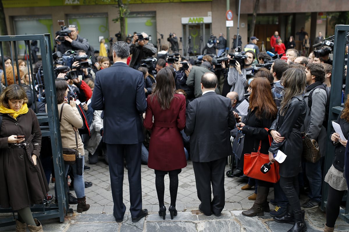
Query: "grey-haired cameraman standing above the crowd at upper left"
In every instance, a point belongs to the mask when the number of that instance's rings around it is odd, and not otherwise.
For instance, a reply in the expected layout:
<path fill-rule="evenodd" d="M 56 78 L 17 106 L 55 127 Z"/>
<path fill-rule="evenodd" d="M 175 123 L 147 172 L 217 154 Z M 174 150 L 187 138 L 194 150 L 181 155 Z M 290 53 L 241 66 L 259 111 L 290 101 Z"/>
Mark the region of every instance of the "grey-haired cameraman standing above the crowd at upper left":
<path fill-rule="evenodd" d="M 64 26 L 63 21 L 61 30 L 56 34 L 58 34 L 55 38 L 55 41 L 57 43 L 57 51 L 60 51 L 62 54 L 64 54 L 68 50 L 84 50 L 86 51 L 86 53 L 89 51 L 90 44 L 87 39 L 80 37 L 77 26 L 69 25 L 69 27 L 67 28 L 66 26 Z M 90 55 L 93 56 L 94 54 Z"/>

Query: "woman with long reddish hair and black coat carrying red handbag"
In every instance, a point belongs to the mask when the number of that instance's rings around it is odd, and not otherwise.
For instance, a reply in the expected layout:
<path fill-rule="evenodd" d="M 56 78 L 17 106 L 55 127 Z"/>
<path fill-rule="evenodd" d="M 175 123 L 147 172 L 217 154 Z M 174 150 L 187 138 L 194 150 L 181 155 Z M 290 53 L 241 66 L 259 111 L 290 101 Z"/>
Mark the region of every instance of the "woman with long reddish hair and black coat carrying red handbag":
<path fill-rule="evenodd" d="M 238 129 L 245 134 L 243 154 L 257 152 L 260 141 L 262 141 L 260 152 L 267 154 L 270 147 L 268 131 L 276 118 L 277 108 L 273 100 L 270 82 L 265 77 L 255 78 L 251 82 L 250 106 L 247 117 L 239 123 Z M 261 173 L 261 175 L 263 175 Z M 243 211 L 242 214 L 248 217 L 264 215 L 270 211 L 267 202 L 269 187 L 272 183 L 257 181 L 257 198 L 251 209 Z"/>

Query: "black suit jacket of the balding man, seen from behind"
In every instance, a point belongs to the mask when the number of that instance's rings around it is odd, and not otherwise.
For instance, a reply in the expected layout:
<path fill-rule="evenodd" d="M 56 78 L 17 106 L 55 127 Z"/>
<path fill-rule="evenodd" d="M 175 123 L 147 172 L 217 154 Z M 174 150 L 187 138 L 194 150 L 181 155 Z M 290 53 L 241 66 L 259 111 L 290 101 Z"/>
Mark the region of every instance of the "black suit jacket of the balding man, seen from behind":
<path fill-rule="evenodd" d="M 208 92 L 188 104 L 184 132 L 190 135 L 190 157 L 209 162 L 232 154 L 229 127 L 236 123 L 231 100 Z"/>

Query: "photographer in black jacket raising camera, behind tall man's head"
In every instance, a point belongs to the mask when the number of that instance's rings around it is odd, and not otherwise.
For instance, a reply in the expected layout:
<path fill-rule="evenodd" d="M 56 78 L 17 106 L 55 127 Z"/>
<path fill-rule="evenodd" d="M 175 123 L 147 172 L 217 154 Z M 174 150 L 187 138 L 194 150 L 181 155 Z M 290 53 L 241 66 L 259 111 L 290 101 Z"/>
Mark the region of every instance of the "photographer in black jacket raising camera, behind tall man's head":
<path fill-rule="evenodd" d="M 149 37 L 144 32 L 133 35 L 132 43 L 129 44 L 130 55 L 132 55 L 129 67 L 138 69 L 141 66 L 142 59 L 155 55 L 157 49 L 153 43 L 148 43 L 148 41 Z"/>

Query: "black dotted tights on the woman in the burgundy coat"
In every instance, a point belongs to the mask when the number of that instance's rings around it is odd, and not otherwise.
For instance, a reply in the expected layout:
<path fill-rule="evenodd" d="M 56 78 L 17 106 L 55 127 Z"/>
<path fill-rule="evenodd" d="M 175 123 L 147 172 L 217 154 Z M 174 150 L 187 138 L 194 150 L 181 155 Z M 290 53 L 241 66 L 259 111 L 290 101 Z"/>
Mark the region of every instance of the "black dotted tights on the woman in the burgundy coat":
<path fill-rule="evenodd" d="M 181 170 L 181 169 L 179 169 Z M 170 177 L 170 196 L 171 196 L 171 206 L 176 207 L 177 191 L 178 191 L 178 170 L 169 171 Z M 164 194 L 165 194 L 165 183 L 164 174 L 162 171 L 155 170 L 155 187 L 157 198 L 159 200 L 159 206 L 164 206 Z"/>

